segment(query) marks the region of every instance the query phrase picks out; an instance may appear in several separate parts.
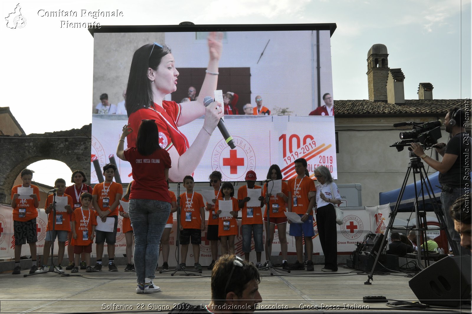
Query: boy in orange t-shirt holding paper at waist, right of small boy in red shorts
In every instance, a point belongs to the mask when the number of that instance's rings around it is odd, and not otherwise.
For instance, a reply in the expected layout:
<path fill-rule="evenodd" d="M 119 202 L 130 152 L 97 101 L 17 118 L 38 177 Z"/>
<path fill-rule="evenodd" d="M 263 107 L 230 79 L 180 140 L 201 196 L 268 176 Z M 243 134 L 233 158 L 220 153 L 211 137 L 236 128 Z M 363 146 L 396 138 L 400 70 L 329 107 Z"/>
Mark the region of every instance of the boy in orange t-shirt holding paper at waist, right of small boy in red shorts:
<path fill-rule="evenodd" d="M 105 232 L 97 230 L 95 244 L 97 253 L 97 262 L 93 267 L 93 271 L 101 271 L 101 257 L 103 256 L 103 247 L 105 240 L 107 241 L 108 247 L 108 270 L 118 271 L 115 265 L 115 243 L 117 239 L 117 227 L 118 227 L 118 205 L 123 195 L 123 187 L 121 184 L 113 182 L 115 172 L 118 171 L 117 166 L 113 164 L 106 164 L 103 166 L 103 176 L 105 181 L 103 183 L 95 184 L 93 187 L 93 209 L 96 211 L 96 215 L 100 216 L 102 222 L 106 222 L 107 219 L 114 219 L 115 224 L 113 225 L 113 231 Z M 98 219 L 98 218 L 97 218 Z"/>

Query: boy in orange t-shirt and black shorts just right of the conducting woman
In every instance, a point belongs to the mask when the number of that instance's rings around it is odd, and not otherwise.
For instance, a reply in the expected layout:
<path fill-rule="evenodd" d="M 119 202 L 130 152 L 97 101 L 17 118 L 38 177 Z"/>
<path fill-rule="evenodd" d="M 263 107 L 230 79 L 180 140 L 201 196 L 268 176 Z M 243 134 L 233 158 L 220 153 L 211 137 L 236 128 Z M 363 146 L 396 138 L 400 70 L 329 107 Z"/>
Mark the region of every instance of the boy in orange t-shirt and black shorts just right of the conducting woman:
<path fill-rule="evenodd" d="M 194 178 L 185 175 L 184 186 L 187 192 L 180 195 L 180 244 L 182 262 L 180 268 L 185 269 L 188 244 L 192 237 L 192 248 L 194 251 L 195 270 L 202 270 L 200 265 L 200 244 L 202 243 L 202 231 L 205 230 L 205 212 L 203 197 L 194 192 Z"/>

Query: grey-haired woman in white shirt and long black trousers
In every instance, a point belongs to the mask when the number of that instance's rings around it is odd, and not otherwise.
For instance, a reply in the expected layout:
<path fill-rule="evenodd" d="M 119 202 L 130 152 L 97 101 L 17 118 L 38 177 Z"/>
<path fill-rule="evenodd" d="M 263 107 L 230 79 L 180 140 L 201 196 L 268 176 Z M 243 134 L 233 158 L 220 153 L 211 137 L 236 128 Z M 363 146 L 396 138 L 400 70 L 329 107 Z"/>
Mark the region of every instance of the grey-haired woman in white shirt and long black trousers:
<path fill-rule="evenodd" d="M 326 166 L 317 167 L 315 176 L 320 184 L 316 186 L 316 192 L 310 192 L 309 197 L 316 193 L 316 223 L 325 257 L 325 266 L 321 270 L 337 271 L 337 225 L 334 206 L 341 203 L 341 196 Z"/>

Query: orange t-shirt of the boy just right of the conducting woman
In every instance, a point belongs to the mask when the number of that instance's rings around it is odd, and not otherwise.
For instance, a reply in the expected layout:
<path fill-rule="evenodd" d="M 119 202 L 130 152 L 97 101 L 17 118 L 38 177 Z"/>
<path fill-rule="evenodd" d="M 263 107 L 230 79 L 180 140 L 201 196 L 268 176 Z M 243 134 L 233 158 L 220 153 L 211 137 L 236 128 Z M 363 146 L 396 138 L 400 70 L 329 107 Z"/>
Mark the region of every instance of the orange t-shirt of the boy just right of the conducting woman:
<path fill-rule="evenodd" d="M 185 192 L 180 194 L 180 225 L 182 228 L 200 229 L 202 227 L 200 209 L 204 206 L 202 194 L 194 192 L 193 200 L 192 193 Z"/>

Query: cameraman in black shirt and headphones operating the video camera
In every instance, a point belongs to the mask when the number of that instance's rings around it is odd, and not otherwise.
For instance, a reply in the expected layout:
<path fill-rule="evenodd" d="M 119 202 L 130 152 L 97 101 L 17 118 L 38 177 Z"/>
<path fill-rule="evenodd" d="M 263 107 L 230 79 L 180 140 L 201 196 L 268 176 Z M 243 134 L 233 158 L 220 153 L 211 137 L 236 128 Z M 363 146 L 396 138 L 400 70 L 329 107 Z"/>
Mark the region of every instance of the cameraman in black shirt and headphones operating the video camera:
<path fill-rule="evenodd" d="M 466 174 L 466 157 L 470 158 L 471 142 L 469 134 L 465 132 L 465 111 L 458 107 L 449 109 L 444 120 L 446 132 L 450 133 L 450 140 L 447 143 L 437 143 L 432 147 L 436 148 L 443 157 L 442 161 L 435 160 L 424 154 L 424 150 L 419 143 L 412 143 L 413 152 L 421 157 L 425 163 L 439 171 L 439 183 L 441 184 L 441 203 L 444 218 L 446 220 L 447 231 L 452 240 L 456 243 L 459 252 L 455 255 L 467 254 L 461 247 L 461 238 L 454 229 L 454 220 L 449 215 L 449 208 L 452 203 L 470 189 L 470 177 Z"/>

